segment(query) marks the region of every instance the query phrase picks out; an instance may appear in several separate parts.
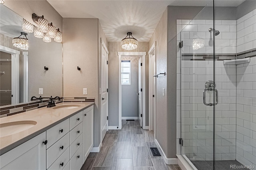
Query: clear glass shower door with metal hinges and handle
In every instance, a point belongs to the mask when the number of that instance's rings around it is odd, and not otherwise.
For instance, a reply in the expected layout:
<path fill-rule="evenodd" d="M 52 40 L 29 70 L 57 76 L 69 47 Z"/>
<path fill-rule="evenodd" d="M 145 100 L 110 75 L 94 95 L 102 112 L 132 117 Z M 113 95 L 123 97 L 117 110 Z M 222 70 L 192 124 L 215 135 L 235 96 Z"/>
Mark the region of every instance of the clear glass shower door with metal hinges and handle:
<path fill-rule="evenodd" d="M 214 169 L 214 2 L 181 27 L 181 153 L 198 170 Z"/>

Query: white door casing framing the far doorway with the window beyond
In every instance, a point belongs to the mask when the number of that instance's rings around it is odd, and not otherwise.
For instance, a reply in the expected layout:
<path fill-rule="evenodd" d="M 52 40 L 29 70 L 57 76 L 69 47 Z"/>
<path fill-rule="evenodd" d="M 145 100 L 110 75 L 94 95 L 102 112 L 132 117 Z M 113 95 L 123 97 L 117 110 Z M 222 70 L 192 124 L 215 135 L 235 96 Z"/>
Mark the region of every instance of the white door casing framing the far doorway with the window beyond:
<path fill-rule="evenodd" d="M 141 113 L 139 112 L 139 101 L 138 101 L 138 109 L 136 112 L 137 117 L 136 119 L 140 120 L 140 126 L 142 128 L 146 127 L 146 52 L 118 52 L 118 59 L 119 59 L 119 127 L 122 127 L 122 57 L 137 57 L 140 58 L 141 61 L 138 62 L 137 67 L 140 65 L 141 68 L 141 87 L 138 87 L 137 92 L 141 97 Z M 124 60 L 123 60 L 124 61 Z M 123 62 L 124 63 L 124 62 Z M 124 64 L 123 64 L 124 65 Z M 139 69 L 139 67 L 138 67 Z M 139 79 L 139 78 L 138 78 Z M 124 79 L 123 79 L 124 80 Z M 139 83 L 138 83 L 139 86 Z M 135 93 L 135 95 L 136 95 Z M 123 117 L 126 119 L 126 117 Z M 130 118 L 131 119 L 131 118 Z"/>

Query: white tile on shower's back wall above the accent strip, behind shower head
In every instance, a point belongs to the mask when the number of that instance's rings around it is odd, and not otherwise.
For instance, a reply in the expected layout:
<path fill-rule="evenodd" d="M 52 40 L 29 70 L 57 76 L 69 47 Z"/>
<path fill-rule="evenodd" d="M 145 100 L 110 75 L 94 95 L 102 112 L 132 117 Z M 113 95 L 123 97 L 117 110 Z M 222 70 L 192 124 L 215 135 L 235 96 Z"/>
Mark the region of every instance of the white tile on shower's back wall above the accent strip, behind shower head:
<path fill-rule="evenodd" d="M 220 31 L 220 34 L 215 36 L 216 53 L 236 53 L 236 20 L 216 20 L 215 23 L 216 30 Z M 183 29 L 182 53 L 213 53 L 213 32 L 209 32 L 209 28 L 213 28 L 213 21 L 177 20 L 177 34 Z M 192 41 L 195 38 L 204 39 L 204 47 L 193 50 Z"/>

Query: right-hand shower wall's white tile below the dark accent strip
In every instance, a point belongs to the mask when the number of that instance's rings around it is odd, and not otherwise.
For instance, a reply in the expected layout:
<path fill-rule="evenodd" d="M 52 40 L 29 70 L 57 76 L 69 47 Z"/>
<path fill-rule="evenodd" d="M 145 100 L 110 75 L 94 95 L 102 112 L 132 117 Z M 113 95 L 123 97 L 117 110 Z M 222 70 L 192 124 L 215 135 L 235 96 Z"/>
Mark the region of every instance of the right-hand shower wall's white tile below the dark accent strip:
<path fill-rule="evenodd" d="M 244 165 L 256 165 L 256 57 L 250 60 L 237 67 L 236 160 Z"/>

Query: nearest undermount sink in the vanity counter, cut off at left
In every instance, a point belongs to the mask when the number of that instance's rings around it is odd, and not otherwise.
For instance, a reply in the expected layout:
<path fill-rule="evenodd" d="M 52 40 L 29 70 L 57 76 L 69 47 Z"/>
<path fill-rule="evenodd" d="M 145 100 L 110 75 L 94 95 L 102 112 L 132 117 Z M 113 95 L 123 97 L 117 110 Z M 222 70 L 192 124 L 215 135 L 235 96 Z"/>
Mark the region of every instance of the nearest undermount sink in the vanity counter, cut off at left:
<path fill-rule="evenodd" d="M 17 121 L 0 124 L 0 137 L 27 130 L 36 125 L 36 121 Z"/>

